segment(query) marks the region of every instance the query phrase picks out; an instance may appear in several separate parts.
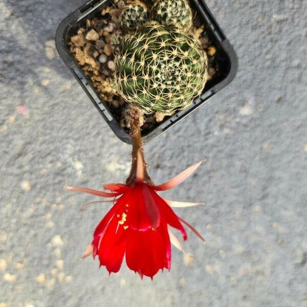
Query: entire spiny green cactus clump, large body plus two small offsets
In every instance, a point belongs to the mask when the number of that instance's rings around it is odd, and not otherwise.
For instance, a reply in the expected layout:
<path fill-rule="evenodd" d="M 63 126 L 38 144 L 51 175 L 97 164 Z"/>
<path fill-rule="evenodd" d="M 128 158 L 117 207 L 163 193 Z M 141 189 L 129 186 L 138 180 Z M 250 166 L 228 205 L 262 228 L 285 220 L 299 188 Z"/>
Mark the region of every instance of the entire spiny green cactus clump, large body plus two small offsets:
<path fill-rule="evenodd" d="M 186 0 L 160 0 L 148 16 L 140 2 L 123 9 L 126 34 L 115 55 L 116 83 L 120 95 L 145 114 L 171 115 L 201 95 L 207 56 L 191 32 Z"/>

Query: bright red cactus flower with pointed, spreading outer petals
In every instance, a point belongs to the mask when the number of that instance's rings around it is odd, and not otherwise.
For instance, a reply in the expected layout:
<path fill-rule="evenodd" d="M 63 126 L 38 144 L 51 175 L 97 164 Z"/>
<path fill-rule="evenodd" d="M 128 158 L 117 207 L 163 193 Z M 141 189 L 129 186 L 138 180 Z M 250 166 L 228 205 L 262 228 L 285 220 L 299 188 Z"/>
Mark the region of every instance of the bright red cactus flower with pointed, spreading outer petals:
<path fill-rule="evenodd" d="M 144 176 L 146 168 L 141 155 L 138 155 L 138 158 L 134 180 L 126 185 L 105 184 L 104 189 L 111 192 L 79 187 L 66 188 L 114 198 L 114 201 L 111 201 L 114 202 L 113 207 L 96 227 L 93 242 L 83 257 L 91 253 L 94 257 L 98 255 L 100 266 L 105 266 L 111 273 L 119 271 L 125 256 L 127 266 L 131 270 L 138 272 L 141 277 L 145 275 L 152 278 L 160 269 L 170 270 L 170 243 L 182 250 L 179 240 L 169 230 L 169 226 L 178 229 L 186 240 L 187 234 L 182 225 L 185 224 L 204 240 L 170 207 L 187 207 L 199 205 L 199 203 L 168 201 L 157 194 L 157 191 L 168 190 L 179 185 L 202 162 L 190 166 L 168 182 L 155 186 L 149 177 Z"/>

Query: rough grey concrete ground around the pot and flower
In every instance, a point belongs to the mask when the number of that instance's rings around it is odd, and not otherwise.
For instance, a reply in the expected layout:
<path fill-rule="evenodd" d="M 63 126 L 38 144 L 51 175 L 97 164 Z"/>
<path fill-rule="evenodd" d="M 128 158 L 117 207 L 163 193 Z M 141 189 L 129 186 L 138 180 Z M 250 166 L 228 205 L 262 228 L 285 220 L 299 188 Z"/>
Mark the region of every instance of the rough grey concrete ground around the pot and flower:
<path fill-rule="evenodd" d="M 307 2 L 208 0 L 238 58 L 236 79 L 146 147 L 157 183 L 206 237 L 173 249 L 170 273 L 108 276 L 78 260 L 107 210 L 64 184 L 122 182 L 116 138 L 53 49 L 85 0 L 0 0 L 0 306 L 307 306 Z"/>

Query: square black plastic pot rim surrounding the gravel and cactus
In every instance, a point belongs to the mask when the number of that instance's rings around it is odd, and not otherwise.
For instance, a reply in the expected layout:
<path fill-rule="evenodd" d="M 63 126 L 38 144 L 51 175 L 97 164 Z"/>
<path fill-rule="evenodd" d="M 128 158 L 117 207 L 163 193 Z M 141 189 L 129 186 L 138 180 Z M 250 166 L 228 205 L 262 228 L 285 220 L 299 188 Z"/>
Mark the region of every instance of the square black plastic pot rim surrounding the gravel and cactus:
<path fill-rule="evenodd" d="M 124 131 L 119 123 L 115 120 L 107 103 L 105 103 L 96 93 L 95 88 L 91 82 L 85 77 L 82 69 L 75 61 L 73 55 L 69 52 L 68 42 L 72 35 L 75 34 L 77 29 L 84 25 L 86 19 L 93 18 L 100 13 L 100 10 L 111 3 L 111 0 L 92 0 L 87 2 L 81 8 L 73 12 L 65 18 L 60 24 L 56 33 L 56 47 L 60 57 L 67 64 L 70 71 L 78 80 L 83 90 L 90 97 L 101 116 L 105 119 L 108 125 L 112 128 L 114 133 L 119 139 L 128 144 L 131 143 L 129 135 Z M 220 75 L 214 78 L 213 81 L 207 82 L 203 94 L 194 100 L 192 105 L 183 111 L 179 111 L 171 117 L 166 118 L 159 126 L 147 134 L 142 135 L 143 141 L 149 143 L 160 136 L 164 131 L 168 130 L 173 125 L 177 124 L 180 120 L 185 118 L 188 114 L 193 112 L 196 108 L 207 102 L 210 98 L 215 96 L 218 92 L 224 90 L 229 83 L 234 79 L 237 71 L 237 57 L 235 51 L 225 37 L 224 33 L 216 23 L 214 17 L 210 13 L 207 5 L 203 0 L 190 0 L 190 5 L 193 10 L 198 14 L 202 23 L 208 25 L 208 34 L 213 41 L 214 46 L 218 52 L 218 67 Z M 209 33 L 211 32 L 211 33 Z"/>

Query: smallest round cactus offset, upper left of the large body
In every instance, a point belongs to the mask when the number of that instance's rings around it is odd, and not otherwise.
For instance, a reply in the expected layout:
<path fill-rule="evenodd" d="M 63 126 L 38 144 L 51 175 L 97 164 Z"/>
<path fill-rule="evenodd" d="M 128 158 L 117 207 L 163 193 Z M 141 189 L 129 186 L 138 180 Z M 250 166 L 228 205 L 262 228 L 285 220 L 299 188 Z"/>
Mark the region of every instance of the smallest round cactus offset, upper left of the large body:
<path fill-rule="evenodd" d="M 136 1 L 123 8 L 119 16 L 119 24 L 123 30 L 135 31 L 143 26 L 149 19 L 149 11 L 146 6 Z"/>

